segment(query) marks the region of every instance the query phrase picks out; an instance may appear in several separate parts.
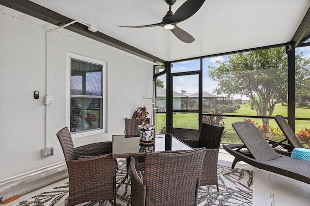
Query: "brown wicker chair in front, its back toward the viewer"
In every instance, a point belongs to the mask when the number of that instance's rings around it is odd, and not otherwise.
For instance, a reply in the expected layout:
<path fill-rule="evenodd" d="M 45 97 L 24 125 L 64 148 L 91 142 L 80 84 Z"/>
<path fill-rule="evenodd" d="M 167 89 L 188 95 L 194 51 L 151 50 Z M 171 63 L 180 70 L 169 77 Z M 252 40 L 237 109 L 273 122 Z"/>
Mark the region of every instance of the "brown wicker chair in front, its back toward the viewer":
<path fill-rule="evenodd" d="M 146 152 L 144 171 L 132 158 L 131 205 L 196 206 L 205 151 Z"/>

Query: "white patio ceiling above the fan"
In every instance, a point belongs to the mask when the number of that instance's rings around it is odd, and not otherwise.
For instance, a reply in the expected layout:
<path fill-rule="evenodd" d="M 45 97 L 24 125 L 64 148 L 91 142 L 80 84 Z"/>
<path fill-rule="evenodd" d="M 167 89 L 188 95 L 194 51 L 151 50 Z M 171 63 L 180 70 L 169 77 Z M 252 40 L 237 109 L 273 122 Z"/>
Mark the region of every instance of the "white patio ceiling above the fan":
<path fill-rule="evenodd" d="M 31 1 L 166 61 L 287 43 L 310 7 L 310 0 L 206 0 L 178 24 L 196 39 L 187 44 L 162 27 L 117 27 L 161 22 L 165 0 Z M 177 0 L 172 11 L 184 2 Z"/>

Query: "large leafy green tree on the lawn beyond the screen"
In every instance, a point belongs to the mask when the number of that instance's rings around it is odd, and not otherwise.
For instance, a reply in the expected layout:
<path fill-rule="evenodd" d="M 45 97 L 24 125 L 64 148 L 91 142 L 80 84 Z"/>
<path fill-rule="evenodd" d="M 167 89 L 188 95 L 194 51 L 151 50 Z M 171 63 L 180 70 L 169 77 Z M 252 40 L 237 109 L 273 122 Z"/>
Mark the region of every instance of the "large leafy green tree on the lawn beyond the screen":
<path fill-rule="evenodd" d="M 305 74 L 306 61 L 305 58 L 296 57 L 296 74 L 301 70 Z M 252 101 L 257 116 L 272 116 L 275 105 L 287 99 L 285 48 L 236 53 L 229 55 L 225 62 L 218 63 L 218 67 L 209 66 L 208 71 L 209 76 L 218 81 L 215 89 L 217 95 L 246 95 Z M 302 79 L 296 78 L 296 81 L 302 82 Z M 269 119 L 262 121 L 269 125 Z"/>

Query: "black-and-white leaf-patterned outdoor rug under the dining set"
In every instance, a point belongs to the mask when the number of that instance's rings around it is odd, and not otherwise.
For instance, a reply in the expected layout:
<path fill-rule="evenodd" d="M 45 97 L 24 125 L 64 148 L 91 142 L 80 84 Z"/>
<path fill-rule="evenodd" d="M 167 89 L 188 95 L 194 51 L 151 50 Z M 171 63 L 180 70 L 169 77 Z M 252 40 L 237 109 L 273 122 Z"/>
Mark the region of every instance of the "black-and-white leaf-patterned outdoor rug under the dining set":
<path fill-rule="evenodd" d="M 117 205 L 126 206 L 130 197 L 130 181 L 121 184 L 126 175 L 126 159 L 118 159 L 119 171 L 116 176 Z M 218 165 L 218 184 L 216 186 L 202 186 L 198 194 L 198 206 L 251 206 L 253 172 L 249 170 L 231 169 Z M 69 182 L 38 194 L 15 206 L 66 206 Z M 93 201 L 78 206 L 112 206 L 108 200 Z"/>

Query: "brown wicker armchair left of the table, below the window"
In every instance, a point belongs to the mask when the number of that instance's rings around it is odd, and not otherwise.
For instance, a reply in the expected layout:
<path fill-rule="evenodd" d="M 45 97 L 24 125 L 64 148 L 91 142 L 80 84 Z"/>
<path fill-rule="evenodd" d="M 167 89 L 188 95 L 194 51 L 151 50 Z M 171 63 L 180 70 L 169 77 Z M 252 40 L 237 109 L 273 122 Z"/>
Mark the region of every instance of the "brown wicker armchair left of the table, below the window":
<path fill-rule="evenodd" d="M 114 200 L 115 160 L 112 143 L 99 142 L 74 148 L 68 127 L 57 132 L 69 173 L 68 206 L 94 200 Z"/>

